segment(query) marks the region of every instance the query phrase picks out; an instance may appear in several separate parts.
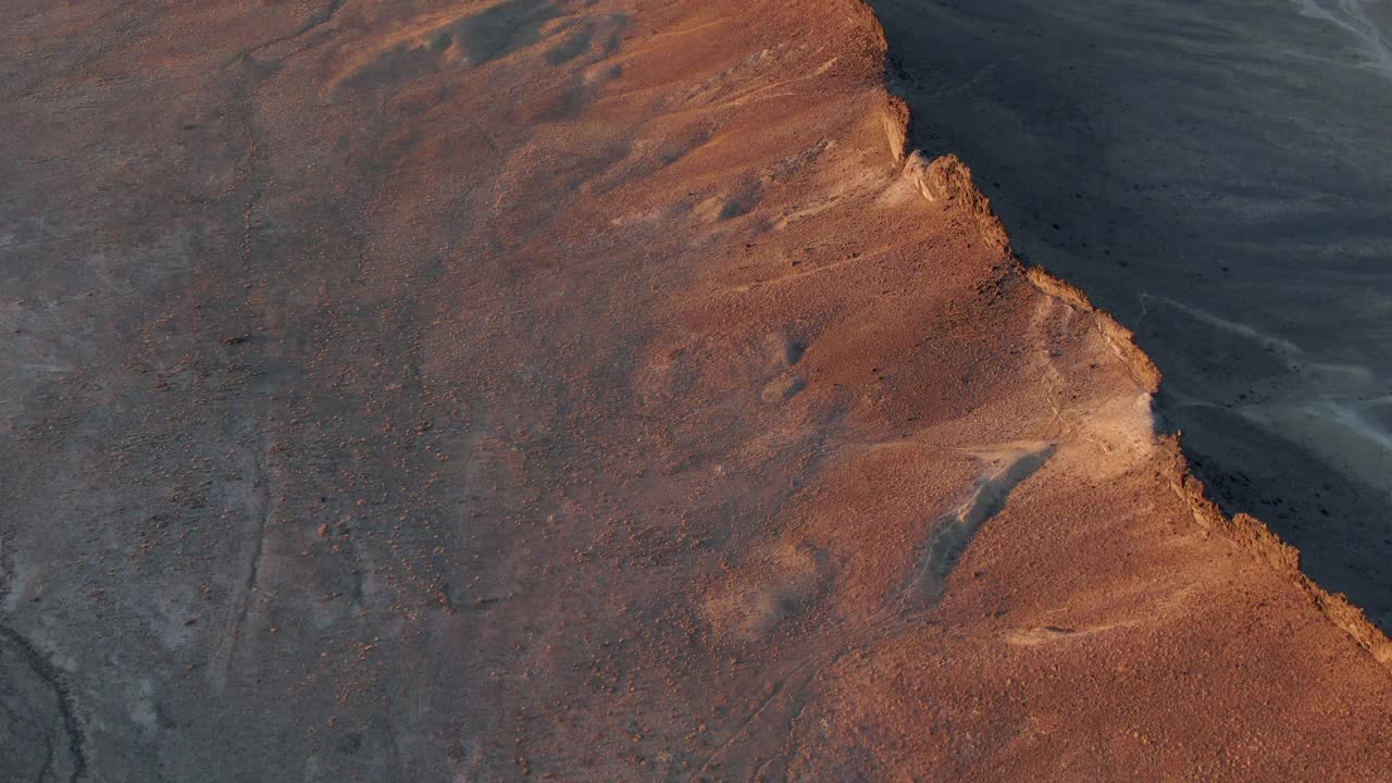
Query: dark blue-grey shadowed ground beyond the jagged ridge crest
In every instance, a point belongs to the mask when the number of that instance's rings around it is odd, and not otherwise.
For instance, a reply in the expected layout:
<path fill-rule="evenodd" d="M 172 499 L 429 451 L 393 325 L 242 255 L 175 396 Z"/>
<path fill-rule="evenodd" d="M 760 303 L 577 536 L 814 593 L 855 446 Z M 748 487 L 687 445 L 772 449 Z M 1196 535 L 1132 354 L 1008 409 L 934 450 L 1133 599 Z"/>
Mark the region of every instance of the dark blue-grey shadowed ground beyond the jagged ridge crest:
<path fill-rule="evenodd" d="M 1229 510 L 1392 624 L 1392 4 L 871 6 L 915 141 L 1137 330 Z"/>

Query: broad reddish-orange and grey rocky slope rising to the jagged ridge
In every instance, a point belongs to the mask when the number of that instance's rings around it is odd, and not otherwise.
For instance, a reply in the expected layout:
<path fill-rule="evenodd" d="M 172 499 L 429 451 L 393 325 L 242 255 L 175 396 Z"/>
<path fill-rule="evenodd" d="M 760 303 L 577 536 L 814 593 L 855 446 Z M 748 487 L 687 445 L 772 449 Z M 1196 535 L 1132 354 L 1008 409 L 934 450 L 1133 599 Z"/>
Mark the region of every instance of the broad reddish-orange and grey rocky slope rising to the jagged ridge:
<path fill-rule="evenodd" d="M 1392 768 L 857 3 L 6 15 L 0 777 Z"/>

